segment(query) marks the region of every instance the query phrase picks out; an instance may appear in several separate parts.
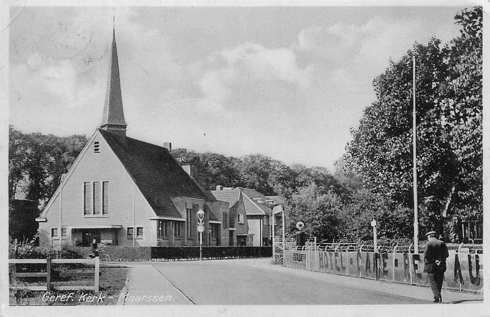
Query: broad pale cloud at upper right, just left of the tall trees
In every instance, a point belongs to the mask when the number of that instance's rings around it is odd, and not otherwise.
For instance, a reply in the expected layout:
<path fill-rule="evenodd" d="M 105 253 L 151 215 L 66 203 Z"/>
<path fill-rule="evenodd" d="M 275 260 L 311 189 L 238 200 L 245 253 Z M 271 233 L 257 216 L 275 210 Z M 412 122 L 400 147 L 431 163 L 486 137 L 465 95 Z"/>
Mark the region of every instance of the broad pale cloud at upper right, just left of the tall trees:
<path fill-rule="evenodd" d="M 423 23 L 379 14 L 362 25 L 337 23 L 304 28 L 292 48 L 311 54 L 317 63 L 329 63 L 330 68 L 342 65 L 353 73 L 374 77 L 387 67 L 390 57 L 397 60 L 416 41 L 429 41 L 424 28 Z"/>

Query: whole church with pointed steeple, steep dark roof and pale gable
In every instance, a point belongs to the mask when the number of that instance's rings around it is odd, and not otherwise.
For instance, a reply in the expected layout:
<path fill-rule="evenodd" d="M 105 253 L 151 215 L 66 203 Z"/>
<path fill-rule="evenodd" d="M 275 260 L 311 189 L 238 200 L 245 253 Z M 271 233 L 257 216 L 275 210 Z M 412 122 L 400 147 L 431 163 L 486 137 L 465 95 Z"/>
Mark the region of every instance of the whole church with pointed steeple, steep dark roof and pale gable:
<path fill-rule="evenodd" d="M 40 245 L 89 245 L 96 239 L 133 247 L 195 246 L 199 210 L 205 212 L 203 245 L 236 245 L 230 243 L 229 204 L 207 199 L 173 158 L 170 144 L 126 136 L 114 31 L 110 58 L 102 123 L 36 218 Z M 233 228 L 244 232 L 240 225 Z"/>

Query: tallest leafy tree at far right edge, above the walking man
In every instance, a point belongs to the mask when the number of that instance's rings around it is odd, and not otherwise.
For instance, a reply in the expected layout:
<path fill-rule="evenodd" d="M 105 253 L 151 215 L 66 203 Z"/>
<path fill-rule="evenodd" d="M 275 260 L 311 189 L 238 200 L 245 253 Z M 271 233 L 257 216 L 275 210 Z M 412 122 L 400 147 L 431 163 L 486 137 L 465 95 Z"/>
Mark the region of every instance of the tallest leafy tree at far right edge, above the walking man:
<path fill-rule="evenodd" d="M 483 219 L 483 9 L 464 9 L 455 16 L 460 36 L 444 48 L 447 84 L 442 98 L 444 128 L 458 163 L 457 182 L 448 204 L 455 221 Z M 452 209 L 452 212 L 451 212 Z M 449 224 L 455 227 L 455 223 Z M 456 227 L 457 228 L 457 227 Z M 459 235 L 461 231 L 453 232 Z"/>

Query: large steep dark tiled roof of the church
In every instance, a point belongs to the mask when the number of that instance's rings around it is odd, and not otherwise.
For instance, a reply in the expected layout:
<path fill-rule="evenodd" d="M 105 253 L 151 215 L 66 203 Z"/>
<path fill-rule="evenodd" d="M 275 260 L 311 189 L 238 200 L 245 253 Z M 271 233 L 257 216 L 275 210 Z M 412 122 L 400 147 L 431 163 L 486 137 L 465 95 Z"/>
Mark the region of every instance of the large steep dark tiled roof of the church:
<path fill-rule="evenodd" d="M 158 216 L 182 217 L 171 197 L 205 199 L 170 152 L 160 146 L 99 129 Z"/>

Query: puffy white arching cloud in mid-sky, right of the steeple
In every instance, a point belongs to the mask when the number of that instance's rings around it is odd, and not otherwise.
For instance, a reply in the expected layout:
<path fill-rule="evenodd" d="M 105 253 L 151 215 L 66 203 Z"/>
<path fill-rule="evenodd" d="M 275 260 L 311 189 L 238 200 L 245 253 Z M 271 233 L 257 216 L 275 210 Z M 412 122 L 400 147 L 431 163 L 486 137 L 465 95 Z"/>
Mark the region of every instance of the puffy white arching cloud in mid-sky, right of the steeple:
<path fill-rule="evenodd" d="M 208 98 L 225 101 L 238 85 L 260 82 L 285 82 L 300 88 L 310 83 L 311 67 L 302 69 L 296 54 L 286 48 L 267 49 L 260 44 L 245 43 L 213 53 L 207 60 L 211 70 L 199 80 Z"/>

